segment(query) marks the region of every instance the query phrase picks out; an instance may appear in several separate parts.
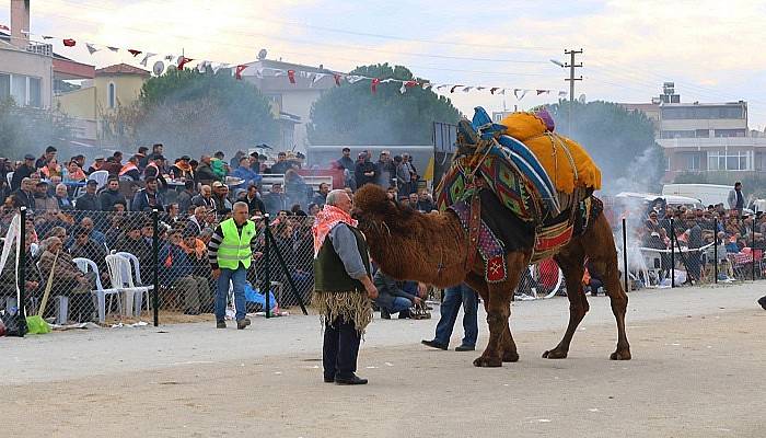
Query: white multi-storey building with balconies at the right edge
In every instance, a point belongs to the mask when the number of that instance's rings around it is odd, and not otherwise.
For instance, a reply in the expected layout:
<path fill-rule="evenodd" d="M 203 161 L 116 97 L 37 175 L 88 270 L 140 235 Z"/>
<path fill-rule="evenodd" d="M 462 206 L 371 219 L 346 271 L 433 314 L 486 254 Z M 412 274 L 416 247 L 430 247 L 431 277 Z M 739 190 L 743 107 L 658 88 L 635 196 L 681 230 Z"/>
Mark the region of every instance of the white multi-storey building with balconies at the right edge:
<path fill-rule="evenodd" d="M 665 154 L 664 182 L 688 172 L 764 172 L 766 138 L 747 127 L 747 103 L 682 103 L 672 82 L 651 104 L 622 104 L 643 112 L 655 124 Z"/>

